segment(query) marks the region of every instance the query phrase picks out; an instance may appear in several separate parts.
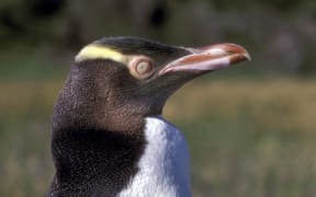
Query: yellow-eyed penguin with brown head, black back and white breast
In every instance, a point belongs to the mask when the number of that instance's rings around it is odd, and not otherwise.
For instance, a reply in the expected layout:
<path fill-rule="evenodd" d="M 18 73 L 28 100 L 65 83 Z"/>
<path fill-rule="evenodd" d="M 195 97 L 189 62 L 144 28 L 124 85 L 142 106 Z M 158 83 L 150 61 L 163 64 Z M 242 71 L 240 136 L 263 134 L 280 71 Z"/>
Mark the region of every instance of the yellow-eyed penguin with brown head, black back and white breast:
<path fill-rule="evenodd" d="M 192 196 L 189 148 L 163 105 L 187 82 L 244 60 L 247 50 L 227 43 L 105 37 L 84 46 L 53 112 L 47 196 Z"/>

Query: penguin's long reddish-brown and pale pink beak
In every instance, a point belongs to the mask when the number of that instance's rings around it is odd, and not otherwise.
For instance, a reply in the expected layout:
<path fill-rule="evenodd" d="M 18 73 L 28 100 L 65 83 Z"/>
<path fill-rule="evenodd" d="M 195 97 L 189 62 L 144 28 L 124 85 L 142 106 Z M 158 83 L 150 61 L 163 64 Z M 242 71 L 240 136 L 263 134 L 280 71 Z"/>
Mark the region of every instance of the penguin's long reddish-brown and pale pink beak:
<path fill-rule="evenodd" d="M 251 60 L 244 47 L 228 43 L 184 49 L 190 54 L 169 62 L 158 74 L 163 76 L 169 72 L 200 74 L 226 68 L 240 61 Z"/>

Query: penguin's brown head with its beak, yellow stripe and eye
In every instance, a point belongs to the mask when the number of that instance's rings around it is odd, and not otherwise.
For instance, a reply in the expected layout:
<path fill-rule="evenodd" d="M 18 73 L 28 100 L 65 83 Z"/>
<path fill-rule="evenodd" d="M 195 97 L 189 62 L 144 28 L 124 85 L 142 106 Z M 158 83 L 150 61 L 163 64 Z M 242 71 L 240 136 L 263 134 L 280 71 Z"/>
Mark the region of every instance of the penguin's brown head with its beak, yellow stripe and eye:
<path fill-rule="evenodd" d="M 77 116 L 99 115 L 111 124 L 117 117 L 160 115 L 185 82 L 244 60 L 250 60 L 247 50 L 234 44 L 192 48 L 139 37 L 102 38 L 78 53 L 58 103 Z"/>

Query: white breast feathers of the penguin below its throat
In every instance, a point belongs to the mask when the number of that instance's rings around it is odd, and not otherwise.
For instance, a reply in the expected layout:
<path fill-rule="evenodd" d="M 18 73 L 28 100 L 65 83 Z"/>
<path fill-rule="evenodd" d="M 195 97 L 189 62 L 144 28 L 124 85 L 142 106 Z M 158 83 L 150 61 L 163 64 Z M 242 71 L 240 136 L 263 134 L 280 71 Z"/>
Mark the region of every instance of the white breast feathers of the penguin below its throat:
<path fill-rule="evenodd" d="M 120 197 L 191 196 L 190 157 L 181 132 L 162 117 L 146 118 L 146 149 L 138 173 Z"/>

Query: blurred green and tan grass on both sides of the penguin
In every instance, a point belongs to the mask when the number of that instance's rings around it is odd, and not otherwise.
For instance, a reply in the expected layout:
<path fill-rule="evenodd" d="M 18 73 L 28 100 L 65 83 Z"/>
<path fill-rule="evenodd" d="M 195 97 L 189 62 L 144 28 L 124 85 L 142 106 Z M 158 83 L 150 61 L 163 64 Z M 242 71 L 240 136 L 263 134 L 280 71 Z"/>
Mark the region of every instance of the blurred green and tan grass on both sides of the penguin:
<path fill-rule="evenodd" d="M 20 69 L 1 70 L 0 196 L 44 196 L 50 114 L 68 71 L 40 69 L 38 58 L 10 63 Z M 194 196 L 315 196 L 316 80 L 235 74 L 250 66 L 198 79 L 166 106 L 190 144 Z"/>

